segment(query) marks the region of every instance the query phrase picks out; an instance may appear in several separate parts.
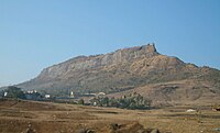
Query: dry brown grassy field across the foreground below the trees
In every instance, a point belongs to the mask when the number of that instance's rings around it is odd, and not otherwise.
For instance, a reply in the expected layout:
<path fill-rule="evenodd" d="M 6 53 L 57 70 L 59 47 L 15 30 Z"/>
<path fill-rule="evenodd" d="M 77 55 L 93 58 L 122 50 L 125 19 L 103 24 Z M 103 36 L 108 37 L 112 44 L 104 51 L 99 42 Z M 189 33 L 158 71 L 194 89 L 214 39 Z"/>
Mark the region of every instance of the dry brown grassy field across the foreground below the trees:
<path fill-rule="evenodd" d="M 201 107 L 147 111 L 64 103 L 0 100 L 0 133 L 217 133 L 220 112 Z M 145 129 L 145 130 L 144 130 Z M 154 130 L 155 131 L 155 130 Z"/>

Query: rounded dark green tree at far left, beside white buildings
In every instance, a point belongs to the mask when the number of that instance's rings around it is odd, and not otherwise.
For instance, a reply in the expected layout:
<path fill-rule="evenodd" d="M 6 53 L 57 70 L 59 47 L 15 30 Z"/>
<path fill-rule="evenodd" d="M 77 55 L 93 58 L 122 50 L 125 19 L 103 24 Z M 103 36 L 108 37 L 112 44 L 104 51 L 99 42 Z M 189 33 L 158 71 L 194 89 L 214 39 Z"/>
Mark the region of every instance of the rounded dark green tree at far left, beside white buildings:
<path fill-rule="evenodd" d="M 7 98 L 13 98 L 13 99 L 25 99 L 24 92 L 21 90 L 21 88 L 10 86 L 8 89 L 6 89 Z"/>

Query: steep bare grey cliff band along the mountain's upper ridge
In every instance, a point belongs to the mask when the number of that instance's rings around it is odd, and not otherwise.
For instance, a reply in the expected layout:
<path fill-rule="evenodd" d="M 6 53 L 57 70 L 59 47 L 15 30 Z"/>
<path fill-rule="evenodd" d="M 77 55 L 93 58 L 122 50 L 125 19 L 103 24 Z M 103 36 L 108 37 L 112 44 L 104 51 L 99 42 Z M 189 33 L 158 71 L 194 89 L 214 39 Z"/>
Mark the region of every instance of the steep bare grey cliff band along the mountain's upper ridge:
<path fill-rule="evenodd" d="M 101 68 L 122 62 L 133 62 L 136 58 L 150 58 L 158 55 L 153 45 L 145 45 L 141 47 L 132 47 L 119 49 L 114 53 L 98 56 L 78 56 L 65 63 L 48 67 L 44 69 L 37 78 L 57 78 L 58 76 L 68 75 L 69 73 Z"/>

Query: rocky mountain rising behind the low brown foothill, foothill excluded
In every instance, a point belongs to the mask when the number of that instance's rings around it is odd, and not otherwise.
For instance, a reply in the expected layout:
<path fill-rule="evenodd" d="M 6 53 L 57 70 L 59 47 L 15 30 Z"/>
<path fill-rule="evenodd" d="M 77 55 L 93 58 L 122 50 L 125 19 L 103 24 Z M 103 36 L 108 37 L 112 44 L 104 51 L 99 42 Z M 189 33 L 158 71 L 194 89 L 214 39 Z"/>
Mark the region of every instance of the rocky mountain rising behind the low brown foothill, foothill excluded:
<path fill-rule="evenodd" d="M 35 79 L 18 86 L 57 93 L 68 90 L 114 93 L 152 84 L 201 80 L 219 90 L 219 77 L 217 69 L 161 55 L 154 44 L 147 44 L 106 55 L 78 56 L 45 68 Z"/>

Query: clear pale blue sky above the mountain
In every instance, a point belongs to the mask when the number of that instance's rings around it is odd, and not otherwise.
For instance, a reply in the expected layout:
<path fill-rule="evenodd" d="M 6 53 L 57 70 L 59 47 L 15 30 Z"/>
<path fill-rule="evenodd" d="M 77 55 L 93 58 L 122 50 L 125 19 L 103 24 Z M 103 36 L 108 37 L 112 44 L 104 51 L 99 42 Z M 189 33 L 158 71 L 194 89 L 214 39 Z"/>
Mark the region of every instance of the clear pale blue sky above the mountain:
<path fill-rule="evenodd" d="M 0 86 L 78 55 L 151 42 L 220 69 L 220 0 L 0 0 Z"/>

